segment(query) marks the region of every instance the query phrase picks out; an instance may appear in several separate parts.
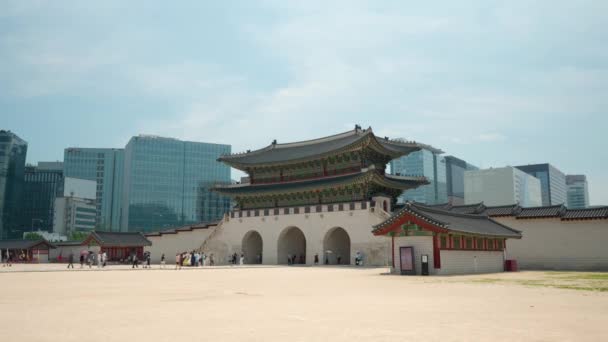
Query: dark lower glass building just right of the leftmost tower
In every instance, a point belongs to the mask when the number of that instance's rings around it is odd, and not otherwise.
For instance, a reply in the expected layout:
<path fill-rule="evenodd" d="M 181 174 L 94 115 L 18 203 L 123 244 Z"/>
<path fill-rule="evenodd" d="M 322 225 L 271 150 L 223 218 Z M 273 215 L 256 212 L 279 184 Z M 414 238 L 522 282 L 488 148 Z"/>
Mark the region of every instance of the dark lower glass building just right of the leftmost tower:
<path fill-rule="evenodd" d="M 53 231 L 55 198 L 63 194 L 63 165 L 38 163 L 25 167 L 19 229 Z"/>

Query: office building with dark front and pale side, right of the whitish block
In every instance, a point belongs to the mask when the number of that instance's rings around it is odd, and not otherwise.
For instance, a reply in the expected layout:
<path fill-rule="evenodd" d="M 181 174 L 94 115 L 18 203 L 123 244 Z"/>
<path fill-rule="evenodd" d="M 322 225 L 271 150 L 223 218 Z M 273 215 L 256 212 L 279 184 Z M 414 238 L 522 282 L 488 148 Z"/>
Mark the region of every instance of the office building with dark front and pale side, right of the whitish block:
<path fill-rule="evenodd" d="M 566 175 L 551 164 L 521 165 L 516 168 L 540 180 L 544 206 L 566 204 Z"/>

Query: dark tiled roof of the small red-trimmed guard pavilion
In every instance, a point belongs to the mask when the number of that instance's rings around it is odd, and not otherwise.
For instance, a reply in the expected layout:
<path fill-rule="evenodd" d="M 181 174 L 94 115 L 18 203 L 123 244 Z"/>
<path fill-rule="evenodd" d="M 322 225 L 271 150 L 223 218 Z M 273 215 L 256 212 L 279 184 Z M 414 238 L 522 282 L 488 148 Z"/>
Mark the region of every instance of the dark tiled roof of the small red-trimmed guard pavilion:
<path fill-rule="evenodd" d="M 521 238 L 521 232 L 498 223 L 487 215 L 460 214 L 443 209 L 427 207 L 415 203 L 406 203 L 386 221 L 374 226 L 374 234 L 384 235 L 396 229 L 401 219 L 407 215 L 416 216 L 440 229 L 448 231 L 497 236 L 506 238 Z"/>

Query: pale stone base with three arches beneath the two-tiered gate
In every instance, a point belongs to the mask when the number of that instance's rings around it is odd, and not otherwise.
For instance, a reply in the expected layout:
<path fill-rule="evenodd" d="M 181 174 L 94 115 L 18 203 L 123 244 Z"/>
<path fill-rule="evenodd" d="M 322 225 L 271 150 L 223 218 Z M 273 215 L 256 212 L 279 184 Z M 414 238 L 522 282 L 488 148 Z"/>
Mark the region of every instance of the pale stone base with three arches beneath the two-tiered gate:
<path fill-rule="evenodd" d="M 216 264 L 225 264 L 230 254 L 240 254 L 246 249 L 243 248 L 243 244 L 247 241 L 243 238 L 246 235 L 251 236 L 247 233 L 256 231 L 262 237 L 263 264 L 282 264 L 286 260 L 279 260 L 279 244 L 285 244 L 286 241 L 279 240 L 287 235 L 282 233 L 295 227 L 303 233 L 306 240 L 305 263 L 312 265 L 315 255 L 319 256 L 320 263 L 324 262 L 327 247 L 324 244 L 331 240 L 331 234 L 336 228 L 342 228 L 350 240 L 349 258 L 342 256 L 343 261 L 350 259 L 350 263 L 354 264 L 354 256 L 359 251 L 363 254 L 365 265 L 387 265 L 390 241 L 384 237 L 376 237 L 371 232 L 372 227 L 382 222 L 384 218 L 374 213 L 369 202 L 357 202 L 353 210 L 350 209 L 349 203 L 343 205 L 343 211 L 339 211 L 338 204 L 319 207 L 311 206 L 310 213 L 305 213 L 305 207 L 298 207 L 298 214 L 295 213 L 295 208 L 289 208 L 288 214 L 285 214 L 284 209 L 281 208 L 279 215 L 274 215 L 274 210 L 271 209 L 268 216 L 264 216 L 264 211 L 260 210 L 258 213 L 260 216 L 257 217 L 254 216 L 254 211 L 249 212 L 250 216 L 247 216 L 246 211 L 243 212 L 243 217 L 239 217 L 237 212 L 234 217 L 231 215 L 223 222 L 218 233 L 209 241 L 205 252 L 214 254 Z M 317 211 L 317 209 L 321 210 Z M 329 254 L 329 258 L 331 263 L 334 263 L 337 256 L 332 253 Z"/>

